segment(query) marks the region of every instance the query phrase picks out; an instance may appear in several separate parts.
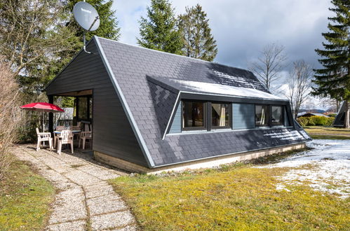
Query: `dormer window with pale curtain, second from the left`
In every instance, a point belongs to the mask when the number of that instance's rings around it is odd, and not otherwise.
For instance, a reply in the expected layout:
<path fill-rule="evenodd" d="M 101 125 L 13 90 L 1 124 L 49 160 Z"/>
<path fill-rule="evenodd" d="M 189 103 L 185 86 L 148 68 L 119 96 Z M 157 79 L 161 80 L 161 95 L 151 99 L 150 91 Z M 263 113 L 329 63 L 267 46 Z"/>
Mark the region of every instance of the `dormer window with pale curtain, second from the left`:
<path fill-rule="evenodd" d="M 212 126 L 214 128 L 231 127 L 231 104 L 211 104 Z"/>

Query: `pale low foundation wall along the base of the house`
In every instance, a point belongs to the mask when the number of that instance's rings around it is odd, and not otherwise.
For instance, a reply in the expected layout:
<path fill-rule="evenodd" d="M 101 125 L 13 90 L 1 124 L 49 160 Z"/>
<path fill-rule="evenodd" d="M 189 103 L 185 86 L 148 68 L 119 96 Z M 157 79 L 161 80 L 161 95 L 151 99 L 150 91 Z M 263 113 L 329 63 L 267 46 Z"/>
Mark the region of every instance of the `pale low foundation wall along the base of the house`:
<path fill-rule="evenodd" d="M 119 158 L 115 158 L 105 153 L 100 153 L 97 151 L 94 152 L 94 157 L 95 157 L 95 160 L 97 161 L 103 162 L 113 167 L 117 167 L 119 169 L 126 170 L 128 172 L 156 174 L 159 172 L 183 171 L 186 169 L 201 169 L 201 168 L 215 167 L 215 166 L 220 166 L 224 164 L 229 164 L 231 162 L 252 160 L 255 158 L 260 158 L 264 155 L 271 155 L 274 153 L 283 153 L 285 151 L 297 150 L 304 147 L 305 147 L 305 143 L 291 144 L 288 146 L 267 148 L 267 149 L 262 149 L 258 151 L 248 151 L 244 153 L 234 153 L 234 154 L 222 155 L 222 156 L 213 157 L 213 158 L 206 158 L 203 160 L 194 160 L 194 161 L 184 162 L 184 163 L 175 164 L 175 165 L 156 167 L 153 169 L 136 165 L 132 162 L 121 160 Z"/>

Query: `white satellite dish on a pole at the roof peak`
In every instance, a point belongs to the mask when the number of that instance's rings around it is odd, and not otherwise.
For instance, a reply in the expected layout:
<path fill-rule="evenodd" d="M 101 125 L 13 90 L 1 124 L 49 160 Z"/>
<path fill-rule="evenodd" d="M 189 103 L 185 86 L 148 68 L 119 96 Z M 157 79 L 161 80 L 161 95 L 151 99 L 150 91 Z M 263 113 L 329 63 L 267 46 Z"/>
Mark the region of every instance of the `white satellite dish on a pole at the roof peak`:
<path fill-rule="evenodd" d="M 85 31 L 95 31 L 100 27 L 100 17 L 98 16 L 97 10 L 85 1 L 79 1 L 73 7 L 73 15 L 76 22 L 81 26 Z M 86 38 L 85 31 L 83 33 L 83 49 L 86 51 Z"/>

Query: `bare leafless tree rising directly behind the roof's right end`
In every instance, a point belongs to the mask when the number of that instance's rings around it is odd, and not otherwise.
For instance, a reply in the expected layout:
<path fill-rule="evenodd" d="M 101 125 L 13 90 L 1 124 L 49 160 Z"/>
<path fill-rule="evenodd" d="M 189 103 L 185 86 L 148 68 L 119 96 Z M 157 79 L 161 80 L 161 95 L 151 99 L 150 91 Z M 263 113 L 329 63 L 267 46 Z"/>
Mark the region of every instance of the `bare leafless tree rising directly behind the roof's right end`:
<path fill-rule="evenodd" d="M 257 61 L 250 63 L 249 69 L 255 73 L 267 90 L 276 93 L 278 87 L 273 87 L 271 84 L 281 78 L 286 59 L 284 46 L 271 43 L 263 48 Z"/>

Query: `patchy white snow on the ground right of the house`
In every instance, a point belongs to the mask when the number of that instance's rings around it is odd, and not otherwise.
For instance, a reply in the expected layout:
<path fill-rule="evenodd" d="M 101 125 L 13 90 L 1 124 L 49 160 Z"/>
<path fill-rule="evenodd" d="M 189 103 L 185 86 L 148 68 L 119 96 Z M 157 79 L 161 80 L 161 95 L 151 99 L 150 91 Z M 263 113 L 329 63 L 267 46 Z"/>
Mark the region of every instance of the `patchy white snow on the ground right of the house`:
<path fill-rule="evenodd" d="M 300 167 L 291 169 L 279 177 L 283 183 L 276 185 L 278 190 L 287 185 L 302 184 L 306 181 L 315 190 L 335 193 L 342 198 L 350 196 L 350 141 L 319 140 L 309 141 L 307 146 L 314 148 L 299 155 L 265 167 Z M 303 165 L 311 165 L 304 167 Z"/>

